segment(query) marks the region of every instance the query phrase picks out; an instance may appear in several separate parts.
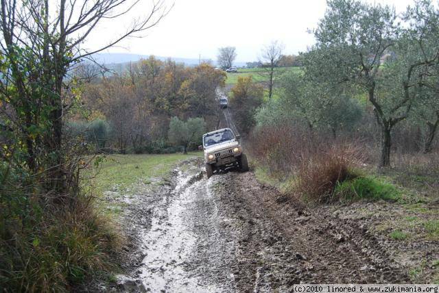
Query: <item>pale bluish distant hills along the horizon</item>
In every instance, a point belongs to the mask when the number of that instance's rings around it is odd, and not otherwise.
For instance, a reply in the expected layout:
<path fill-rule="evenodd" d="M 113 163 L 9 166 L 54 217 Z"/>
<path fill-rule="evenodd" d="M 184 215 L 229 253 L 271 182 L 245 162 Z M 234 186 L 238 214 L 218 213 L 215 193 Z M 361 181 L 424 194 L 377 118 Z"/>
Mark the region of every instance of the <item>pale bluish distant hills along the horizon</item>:
<path fill-rule="evenodd" d="M 131 54 L 131 53 L 97 53 L 93 55 L 95 61 L 99 64 L 123 64 L 128 62 L 137 62 L 141 59 L 147 59 L 150 55 L 139 55 L 139 54 Z M 176 57 L 163 57 L 156 56 L 155 58 L 158 60 L 166 61 L 168 59 L 174 60 L 177 63 L 184 63 L 186 66 L 195 66 L 198 65 L 199 60 L 193 58 L 176 58 Z M 213 61 L 213 65 L 215 65 L 215 61 Z M 245 62 L 235 62 L 235 66 L 245 66 Z"/>

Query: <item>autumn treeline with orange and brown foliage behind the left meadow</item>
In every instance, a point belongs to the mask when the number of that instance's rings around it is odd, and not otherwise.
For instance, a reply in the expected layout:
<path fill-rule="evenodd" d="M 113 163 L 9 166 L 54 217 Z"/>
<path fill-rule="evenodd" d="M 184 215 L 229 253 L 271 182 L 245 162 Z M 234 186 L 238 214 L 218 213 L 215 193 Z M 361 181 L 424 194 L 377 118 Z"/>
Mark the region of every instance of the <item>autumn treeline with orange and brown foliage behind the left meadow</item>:
<path fill-rule="evenodd" d="M 187 145 L 168 138 L 171 118 L 202 118 L 202 125 L 215 129 L 222 118 L 216 89 L 225 79 L 224 72 L 209 64 L 191 68 L 150 57 L 123 73 L 94 77 L 85 84 L 86 120 L 72 117 L 68 126 L 72 133 L 84 133 L 100 151 L 175 152 Z"/>

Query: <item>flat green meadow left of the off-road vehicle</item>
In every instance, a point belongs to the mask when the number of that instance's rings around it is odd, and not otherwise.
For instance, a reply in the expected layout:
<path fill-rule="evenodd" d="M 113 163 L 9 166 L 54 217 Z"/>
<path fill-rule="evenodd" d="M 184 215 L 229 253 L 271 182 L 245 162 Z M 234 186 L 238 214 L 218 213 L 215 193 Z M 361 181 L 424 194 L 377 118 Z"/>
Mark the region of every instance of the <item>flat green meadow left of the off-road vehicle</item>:
<path fill-rule="evenodd" d="M 193 152 L 188 155 L 181 153 L 166 155 L 109 155 L 99 172 L 93 178 L 93 185 L 98 194 L 117 186 L 124 191 L 133 183 L 143 181 L 148 184 L 154 178 L 166 179 L 169 172 L 179 161 L 202 155 Z"/>

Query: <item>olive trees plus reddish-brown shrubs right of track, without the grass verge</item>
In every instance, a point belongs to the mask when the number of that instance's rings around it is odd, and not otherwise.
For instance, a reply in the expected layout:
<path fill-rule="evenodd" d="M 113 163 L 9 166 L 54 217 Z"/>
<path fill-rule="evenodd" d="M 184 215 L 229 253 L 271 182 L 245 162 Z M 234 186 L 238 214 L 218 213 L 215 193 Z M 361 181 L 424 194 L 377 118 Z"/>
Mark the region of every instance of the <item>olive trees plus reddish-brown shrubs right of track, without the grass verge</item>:
<path fill-rule="evenodd" d="M 257 110 L 251 136 L 270 173 L 293 176 L 318 201 L 357 163 L 401 165 L 397 153 L 429 166 L 438 152 L 439 10 L 431 1 L 402 14 L 358 0 L 327 5 L 302 73 L 274 81 L 277 97 Z"/>

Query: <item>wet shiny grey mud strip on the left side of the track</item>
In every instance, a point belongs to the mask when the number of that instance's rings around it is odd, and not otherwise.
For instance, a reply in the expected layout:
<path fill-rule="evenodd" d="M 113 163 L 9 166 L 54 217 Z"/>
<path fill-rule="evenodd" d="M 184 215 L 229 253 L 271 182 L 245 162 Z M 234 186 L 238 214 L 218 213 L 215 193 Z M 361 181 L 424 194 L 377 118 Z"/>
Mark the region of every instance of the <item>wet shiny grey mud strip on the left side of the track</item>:
<path fill-rule="evenodd" d="M 232 277 L 219 253 L 226 250 L 217 226 L 224 220 L 217 213 L 212 183 L 196 162 L 186 162 L 174 170 L 171 186 L 135 196 L 132 205 L 139 211 L 132 217 L 145 218 L 143 225 L 134 227 L 137 249 L 132 255 L 138 260 L 128 260 L 130 272 L 117 276 L 109 291 L 228 291 L 223 286 L 230 288 Z"/>

